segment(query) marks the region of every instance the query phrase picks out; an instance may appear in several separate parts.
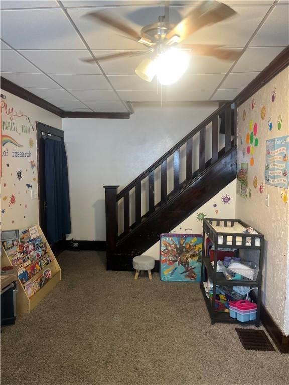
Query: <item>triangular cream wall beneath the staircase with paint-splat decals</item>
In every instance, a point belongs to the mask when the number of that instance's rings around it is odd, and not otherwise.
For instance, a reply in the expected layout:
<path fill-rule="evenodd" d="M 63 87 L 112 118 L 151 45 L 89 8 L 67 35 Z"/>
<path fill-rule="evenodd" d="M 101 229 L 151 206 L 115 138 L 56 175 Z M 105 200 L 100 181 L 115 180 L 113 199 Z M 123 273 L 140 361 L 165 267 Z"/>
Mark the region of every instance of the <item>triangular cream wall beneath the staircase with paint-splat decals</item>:
<path fill-rule="evenodd" d="M 228 197 L 228 203 L 223 197 Z M 207 218 L 235 219 L 236 218 L 236 179 L 223 188 L 203 206 L 179 223 L 169 233 L 176 234 L 203 234 L 203 221 L 199 214 L 205 214 Z M 144 255 L 150 255 L 156 260 L 160 259 L 160 241 L 150 247 Z"/>

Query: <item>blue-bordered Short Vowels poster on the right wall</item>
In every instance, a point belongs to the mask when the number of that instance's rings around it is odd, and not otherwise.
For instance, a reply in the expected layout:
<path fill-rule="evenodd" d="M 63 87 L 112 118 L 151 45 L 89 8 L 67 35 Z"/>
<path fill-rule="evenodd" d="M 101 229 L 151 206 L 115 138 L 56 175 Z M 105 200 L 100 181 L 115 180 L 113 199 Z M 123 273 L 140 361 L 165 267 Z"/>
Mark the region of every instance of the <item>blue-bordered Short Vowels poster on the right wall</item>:
<path fill-rule="evenodd" d="M 265 183 L 288 188 L 289 136 L 266 140 Z"/>

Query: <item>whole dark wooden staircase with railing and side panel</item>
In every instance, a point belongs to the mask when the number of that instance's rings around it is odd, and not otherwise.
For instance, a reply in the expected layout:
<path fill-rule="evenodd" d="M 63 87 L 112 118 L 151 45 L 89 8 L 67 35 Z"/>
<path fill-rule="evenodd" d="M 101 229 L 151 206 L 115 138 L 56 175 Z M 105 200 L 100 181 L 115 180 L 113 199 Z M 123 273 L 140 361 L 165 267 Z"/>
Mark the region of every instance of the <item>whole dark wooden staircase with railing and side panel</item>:
<path fill-rule="evenodd" d="M 119 186 L 104 186 L 107 270 L 132 270 L 135 255 L 236 178 L 231 106 L 211 114 L 119 193 Z"/>

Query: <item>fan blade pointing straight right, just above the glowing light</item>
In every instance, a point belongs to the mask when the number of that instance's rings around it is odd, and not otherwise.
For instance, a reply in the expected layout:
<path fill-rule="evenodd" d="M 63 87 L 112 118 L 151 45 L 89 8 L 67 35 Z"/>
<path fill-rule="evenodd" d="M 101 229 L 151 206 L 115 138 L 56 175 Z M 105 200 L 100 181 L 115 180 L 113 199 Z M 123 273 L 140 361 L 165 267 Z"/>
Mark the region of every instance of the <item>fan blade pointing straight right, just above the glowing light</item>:
<path fill-rule="evenodd" d="M 223 49 L 218 45 L 182 44 L 181 48 L 191 49 L 193 55 L 213 56 L 218 59 L 235 61 L 242 53 L 242 50 Z"/>

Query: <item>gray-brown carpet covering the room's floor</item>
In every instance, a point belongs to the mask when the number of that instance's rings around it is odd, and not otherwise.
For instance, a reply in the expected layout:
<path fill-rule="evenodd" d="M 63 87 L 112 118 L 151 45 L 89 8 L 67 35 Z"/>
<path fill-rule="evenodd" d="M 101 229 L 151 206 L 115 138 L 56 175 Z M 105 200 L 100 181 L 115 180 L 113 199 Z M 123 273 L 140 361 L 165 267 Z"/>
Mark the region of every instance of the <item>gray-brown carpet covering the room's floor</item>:
<path fill-rule="evenodd" d="M 289 356 L 244 350 L 211 325 L 199 284 L 105 271 L 104 253 L 64 252 L 63 280 L 2 330 L 2 385 L 281 385 Z"/>

